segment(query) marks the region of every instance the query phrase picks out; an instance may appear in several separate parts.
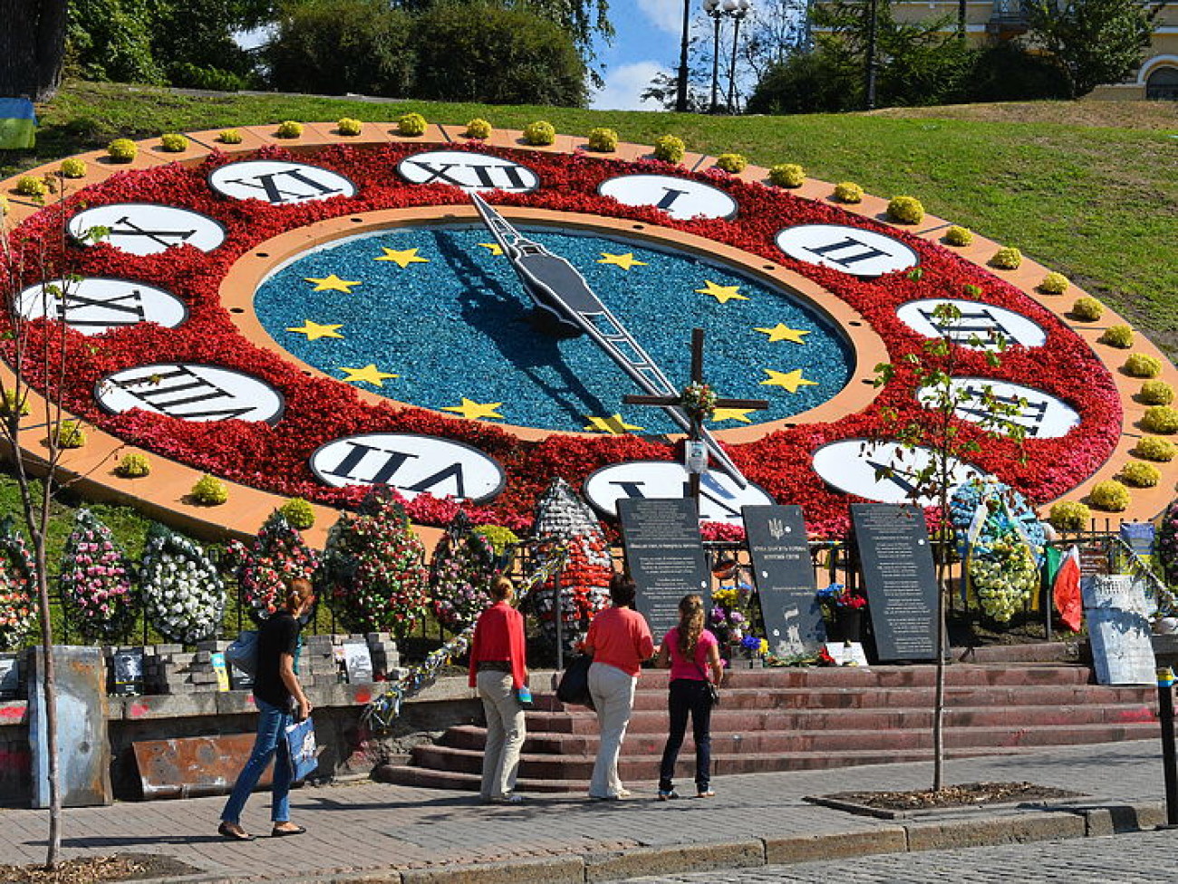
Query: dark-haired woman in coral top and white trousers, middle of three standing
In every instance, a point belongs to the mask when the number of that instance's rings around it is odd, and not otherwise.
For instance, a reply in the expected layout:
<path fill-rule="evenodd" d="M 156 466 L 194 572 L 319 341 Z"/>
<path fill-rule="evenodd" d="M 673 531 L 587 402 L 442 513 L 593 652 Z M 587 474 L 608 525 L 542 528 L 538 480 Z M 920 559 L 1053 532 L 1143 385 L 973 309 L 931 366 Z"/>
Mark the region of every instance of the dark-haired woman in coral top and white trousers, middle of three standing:
<path fill-rule="evenodd" d="M 634 581 L 615 574 L 609 581 L 614 606 L 593 619 L 582 642 L 582 649 L 593 654 L 589 694 L 601 726 L 601 746 L 593 766 L 589 797 L 602 801 L 616 801 L 630 794 L 617 776 L 617 757 L 630 723 L 634 686 L 642 661 L 655 653 L 650 627 L 646 618 L 634 611 L 635 595 Z"/>

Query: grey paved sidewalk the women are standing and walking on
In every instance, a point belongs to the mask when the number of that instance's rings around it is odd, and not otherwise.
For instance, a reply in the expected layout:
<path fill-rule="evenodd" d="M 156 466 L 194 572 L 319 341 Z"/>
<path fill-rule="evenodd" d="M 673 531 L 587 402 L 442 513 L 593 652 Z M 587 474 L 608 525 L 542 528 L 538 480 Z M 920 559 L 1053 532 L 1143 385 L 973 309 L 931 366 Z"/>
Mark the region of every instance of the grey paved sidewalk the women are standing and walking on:
<path fill-rule="evenodd" d="M 803 796 L 848 790 L 927 789 L 927 763 L 722 777 L 710 799 L 654 800 L 654 783 L 604 803 L 535 796 L 483 805 L 464 792 L 375 783 L 292 793 L 294 838 L 230 843 L 217 832 L 224 798 L 120 803 L 65 812 L 64 853 L 165 853 L 201 880 L 584 882 L 640 875 L 905 850 L 1108 834 L 1164 822 L 1160 744 L 1139 740 L 952 759 L 951 783 L 1027 780 L 1081 792 L 1057 806 L 946 811 L 875 819 L 815 806 Z M 243 824 L 266 836 L 269 796 Z M 0 810 L 0 856 L 45 856 L 44 811 Z"/>

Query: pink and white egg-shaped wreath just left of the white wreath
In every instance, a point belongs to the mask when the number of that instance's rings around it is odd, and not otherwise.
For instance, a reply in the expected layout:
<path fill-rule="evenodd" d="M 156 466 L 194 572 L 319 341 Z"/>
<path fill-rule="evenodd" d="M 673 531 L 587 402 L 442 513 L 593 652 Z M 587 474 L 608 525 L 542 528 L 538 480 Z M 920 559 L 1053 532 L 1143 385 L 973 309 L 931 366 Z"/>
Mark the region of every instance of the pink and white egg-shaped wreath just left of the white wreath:
<path fill-rule="evenodd" d="M 66 615 L 87 639 L 118 640 L 135 620 L 131 566 L 111 529 L 79 509 L 66 540 L 58 576 Z"/>

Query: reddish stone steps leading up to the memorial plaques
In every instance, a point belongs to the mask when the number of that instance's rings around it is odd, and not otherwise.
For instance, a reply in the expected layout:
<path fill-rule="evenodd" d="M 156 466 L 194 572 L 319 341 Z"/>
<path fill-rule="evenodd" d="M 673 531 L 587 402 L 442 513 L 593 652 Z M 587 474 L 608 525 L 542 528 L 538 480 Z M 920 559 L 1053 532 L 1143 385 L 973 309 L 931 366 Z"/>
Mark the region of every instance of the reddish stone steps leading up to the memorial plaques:
<path fill-rule="evenodd" d="M 1030 662 L 953 664 L 946 669 L 946 754 L 1020 752 L 1035 746 L 1156 739 L 1156 691 L 1092 684 L 1091 671 L 1051 647 Z M 713 711 L 716 774 L 815 770 L 932 758 L 932 666 L 735 669 Z M 534 691 L 537 686 L 534 685 Z M 657 776 L 667 728 L 667 673 L 644 671 L 620 760 L 623 780 Z M 485 731 L 449 728 L 417 746 L 397 781 L 475 789 Z M 521 791 L 584 791 L 600 739 L 596 717 L 536 692 L 528 713 Z M 679 776 L 690 777 L 690 733 Z"/>

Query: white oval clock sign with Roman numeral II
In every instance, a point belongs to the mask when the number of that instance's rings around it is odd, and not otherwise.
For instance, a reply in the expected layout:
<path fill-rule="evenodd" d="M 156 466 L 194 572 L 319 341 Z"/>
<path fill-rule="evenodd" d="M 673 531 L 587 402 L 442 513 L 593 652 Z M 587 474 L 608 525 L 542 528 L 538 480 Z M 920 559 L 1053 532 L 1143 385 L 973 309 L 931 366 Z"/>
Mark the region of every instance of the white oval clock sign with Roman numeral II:
<path fill-rule="evenodd" d="M 920 256 L 899 239 L 842 224 L 798 224 L 777 231 L 777 248 L 795 260 L 875 277 L 906 270 Z"/>

